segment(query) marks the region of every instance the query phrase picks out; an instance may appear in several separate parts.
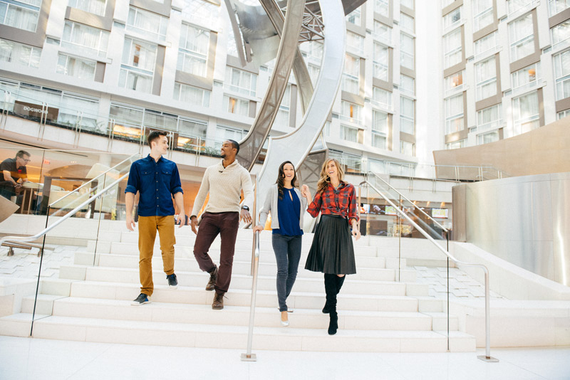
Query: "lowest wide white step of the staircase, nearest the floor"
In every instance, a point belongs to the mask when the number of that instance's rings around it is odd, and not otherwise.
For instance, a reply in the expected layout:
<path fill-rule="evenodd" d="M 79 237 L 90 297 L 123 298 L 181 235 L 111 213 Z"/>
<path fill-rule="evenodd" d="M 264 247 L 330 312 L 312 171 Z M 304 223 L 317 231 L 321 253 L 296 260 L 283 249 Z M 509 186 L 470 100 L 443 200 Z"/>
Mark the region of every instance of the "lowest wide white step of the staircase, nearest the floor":
<path fill-rule="evenodd" d="M 223 312 L 223 311 L 221 311 Z M 0 318 L 0 334 L 29 334 L 31 315 Z M 247 326 L 105 320 L 81 317 L 39 317 L 33 337 L 87 342 L 152 344 L 170 347 L 238 349 L 247 347 Z M 253 349 L 328 352 L 446 352 L 445 332 L 339 329 L 328 336 L 321 329 L 255 327 Z M 450 333 L 452 352 L 475 351 L 474 337 Z"/>

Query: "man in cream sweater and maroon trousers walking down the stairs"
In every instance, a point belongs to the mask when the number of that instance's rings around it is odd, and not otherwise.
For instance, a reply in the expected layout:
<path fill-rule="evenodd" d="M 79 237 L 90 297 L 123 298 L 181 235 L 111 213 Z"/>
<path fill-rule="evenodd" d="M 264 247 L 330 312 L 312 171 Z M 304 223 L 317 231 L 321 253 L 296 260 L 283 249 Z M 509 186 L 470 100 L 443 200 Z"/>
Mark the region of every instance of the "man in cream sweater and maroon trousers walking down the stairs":
<path fill-rule="evenodd" d="M 248 223 L 252 221 L 252 216 L 249 214 L 249 204 L 252 203 L 253 195 L 252 178 L 249 176 L 249 171 L 236 161 L 237 152 L 239 152 L 237 142 L 224 141 L 221 149 L 222 161 L 206 169 L 190 213 L 190 226 L 197 234 L 194 255 L 200 269 L 209 273 L 206 290 L 216 291 L 212 302 L 214 310 L 224 308 L 224 294 L 232 280 L 239 221 L 242 219 Z M 240 207 L 242 190 L 244 205 Z M 197 214 L 204 206 L 207 194 L 209 194 L 208 203 L 197 229 Z M 218 234 L 222 240 L 219 268 L 208 255 L 209 247 Z"/>

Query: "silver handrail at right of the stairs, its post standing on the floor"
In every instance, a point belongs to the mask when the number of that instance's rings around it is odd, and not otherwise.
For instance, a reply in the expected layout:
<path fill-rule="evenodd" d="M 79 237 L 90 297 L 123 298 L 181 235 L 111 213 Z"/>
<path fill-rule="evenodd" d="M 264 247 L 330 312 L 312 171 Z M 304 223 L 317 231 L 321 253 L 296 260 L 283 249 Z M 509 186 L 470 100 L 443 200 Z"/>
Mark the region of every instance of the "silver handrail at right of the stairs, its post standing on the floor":
<path fill-rule="evenodd" d="M 464 261 L 461 261 L 461 260 L 458 260 L 457 258 L 455 258 L 455 256 L 453 256 L 451 253 L 449 253 L 449 251 L 443 249 L 442 246 L 437 244 L 437 242 L 430 236 L 429 233 L 425 232 L 423 230 L 423 228 L 418 226 L 418 224 L 415 223 L 415 221 L 413 221 L 412 218 L 410 218 L 410 216 L 408 216 L 404 211 L 402 211 L 398 206 L 396 206 L 392 201 L 390 201 L 390 199 L 388 199 L 388 197 L 385 196 L 382 191 L 376 189 L 375 186 L 373 186 L 373 184 L 371 184 L 370 182 L 368 182 L 368 181 L 361 182 L 361 184 L 358 185 L 358 189 L 359 189 L 358 194 L 361 193 L 360 189 L 364 184 L 370 186 L 371 189 L 373 189 L 378 194 L 380 194 L 380 196 L 382 196 L 382 198 L 385 199 L 385 201 L 387 201 L 390 204 L 390 206 L 393 206 L 393 208 L 401 216 L 406 218 L 406 220 L 408 220 L 412 224 L 412 226 L 414 226 L 418 231 L 420 231 L 420 233 L 423 236 L 425 236 L 425 238 L 427 238 L 427 240 L 431 241 L 439 250 L 441 250 L 447 256 L 447 258 L 449 258 L 450 260 L 452 260 L 454 263 L 456 263 L 458 265 L 465 265 L 468 267 L 481 268 L 484 271 L 484 275 L 485 275 L 485 355 L 479 356 L 478 358 L 482 359 L 484 361 L 498 361 L 497 359 L 494 359 L 491 357 L 491 321 L 490 321 L 491 317 L 490 317 L 490 310 L 489 310 L 489 269 L 487 269 L 487 267 L 485 265 L 482 265 L 482 264 L 465 263 Z M 360 201 L 360 199 L 358 201 Z"/>

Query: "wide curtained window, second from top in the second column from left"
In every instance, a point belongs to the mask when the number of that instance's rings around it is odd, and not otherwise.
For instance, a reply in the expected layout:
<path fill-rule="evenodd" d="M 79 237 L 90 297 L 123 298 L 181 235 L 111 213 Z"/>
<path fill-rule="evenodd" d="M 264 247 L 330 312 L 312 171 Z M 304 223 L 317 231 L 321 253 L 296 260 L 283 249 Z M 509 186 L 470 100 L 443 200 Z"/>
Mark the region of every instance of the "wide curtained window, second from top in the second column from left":
<path fill-rule="evenodd" d="M 108 42 L 108 31 L 72 21 L 66 21 L 66 25 L 63 27 L 61 46 L 73 50 L 73 53 L 105 57 Z"/>

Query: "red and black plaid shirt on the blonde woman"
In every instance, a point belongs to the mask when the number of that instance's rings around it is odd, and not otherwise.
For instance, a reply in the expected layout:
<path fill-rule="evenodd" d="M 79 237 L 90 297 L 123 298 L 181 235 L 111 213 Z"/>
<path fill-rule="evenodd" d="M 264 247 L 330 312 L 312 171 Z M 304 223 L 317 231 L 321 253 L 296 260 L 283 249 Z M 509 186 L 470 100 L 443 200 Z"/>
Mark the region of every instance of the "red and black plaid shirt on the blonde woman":
<path fill-rule="evenodd" d="M 354 186 L 342 182 L 338 189 L 328 184 L 325 191 L 315 194 L 315 199 L 309 204 L 307 212 L 316 218 L 318 212 L 321 215 L 340 215 L 343 218 L 348 218 L 358 221 L 358 206 L 356 204 L 356 191 Z"/>

